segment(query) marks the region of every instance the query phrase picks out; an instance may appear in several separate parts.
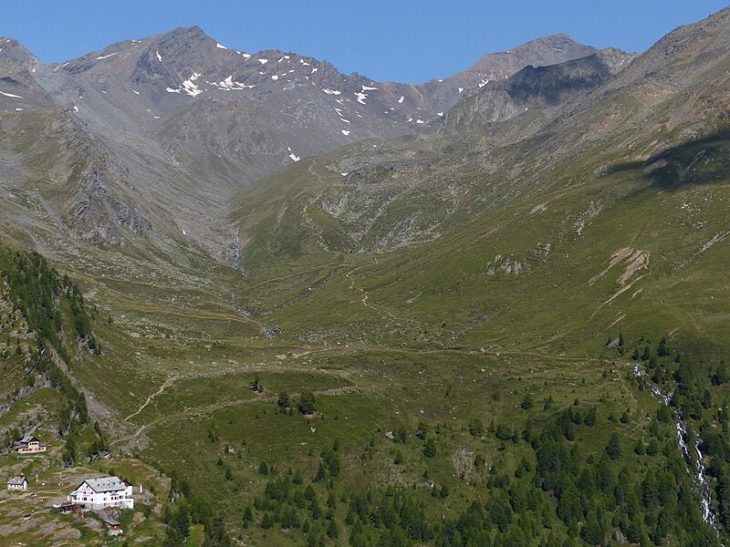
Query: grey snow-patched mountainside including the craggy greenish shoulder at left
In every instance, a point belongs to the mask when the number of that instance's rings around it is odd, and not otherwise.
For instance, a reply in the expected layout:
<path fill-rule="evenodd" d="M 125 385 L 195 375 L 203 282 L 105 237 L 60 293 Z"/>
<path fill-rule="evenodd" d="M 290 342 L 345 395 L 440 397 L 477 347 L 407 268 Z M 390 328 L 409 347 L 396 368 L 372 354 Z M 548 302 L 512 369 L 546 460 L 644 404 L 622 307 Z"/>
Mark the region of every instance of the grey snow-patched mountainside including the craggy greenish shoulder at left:
<path fill-rule="evenodd" d="M 422 132 L 485 78 L 595 52 L 548 36 L 410 85 L 344 75 L 295 53 L 236 51 L 198 26 L 58 65 L 0 38 L 0 182 L 32 186 L 53 229 L 83 242 L 123 245 L 154 233 L 166 253 L 191 237 L 227 247 L 228 200 L 251 182 L 358 140 Z M 504 118 L 524 100 L 495 109 Z M 13 131 L 26 136 L 22 144 Z M 37 219 L 13 216 L 35 230 Z M 386 240 L 408 231 L 394 227 Z"/>

